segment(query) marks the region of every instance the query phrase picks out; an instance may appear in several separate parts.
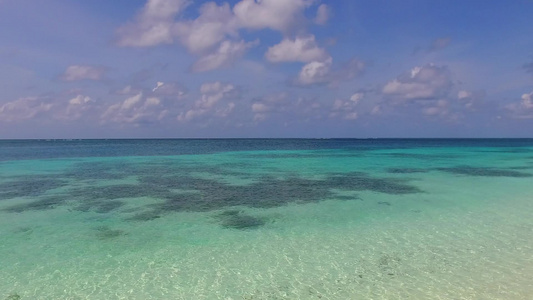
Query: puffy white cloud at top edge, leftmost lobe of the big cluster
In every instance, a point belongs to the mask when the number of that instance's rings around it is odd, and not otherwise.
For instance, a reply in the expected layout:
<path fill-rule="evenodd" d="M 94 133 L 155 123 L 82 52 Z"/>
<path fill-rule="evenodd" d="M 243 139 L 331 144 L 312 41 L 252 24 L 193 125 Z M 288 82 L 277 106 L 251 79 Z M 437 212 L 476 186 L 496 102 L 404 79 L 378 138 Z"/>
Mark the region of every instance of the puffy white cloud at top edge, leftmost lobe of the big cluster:
<path fill-rule="evenodd" d="M 149 47 L 174 41 L 174 18 L 187 0 L 148 0 L 135 22 L 117 30 L 119 46 Z"/>

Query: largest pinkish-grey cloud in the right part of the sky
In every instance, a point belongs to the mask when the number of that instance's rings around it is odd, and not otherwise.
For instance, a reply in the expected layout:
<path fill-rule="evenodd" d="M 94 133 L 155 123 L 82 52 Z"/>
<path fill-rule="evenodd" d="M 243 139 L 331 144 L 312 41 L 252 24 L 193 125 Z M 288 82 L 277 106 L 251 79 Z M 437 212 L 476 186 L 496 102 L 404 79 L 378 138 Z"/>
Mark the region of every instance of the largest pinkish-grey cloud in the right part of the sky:
<path fill-rule="evenodd" d="M 445 66 L 428 64 L 389 81 L 384 95 L 402 100 L 434 100 L 445 97 L 453 86 L 451 73 Z"/>

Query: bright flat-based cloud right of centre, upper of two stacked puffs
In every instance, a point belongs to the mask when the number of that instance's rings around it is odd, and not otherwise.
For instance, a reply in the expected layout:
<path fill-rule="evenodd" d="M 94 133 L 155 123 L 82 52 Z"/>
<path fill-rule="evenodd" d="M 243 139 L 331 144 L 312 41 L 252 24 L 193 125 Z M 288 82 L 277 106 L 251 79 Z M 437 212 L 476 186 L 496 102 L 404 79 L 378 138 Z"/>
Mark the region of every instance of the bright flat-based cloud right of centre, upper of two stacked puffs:
<path fill-rule="evenodd" d="M 319 48 L 314 35 L 285 38 L 279 44 L 268 48 L 265 57 L 270 62 L 312 62 L 325 61 L 329 58 L 326 50 Z"/>

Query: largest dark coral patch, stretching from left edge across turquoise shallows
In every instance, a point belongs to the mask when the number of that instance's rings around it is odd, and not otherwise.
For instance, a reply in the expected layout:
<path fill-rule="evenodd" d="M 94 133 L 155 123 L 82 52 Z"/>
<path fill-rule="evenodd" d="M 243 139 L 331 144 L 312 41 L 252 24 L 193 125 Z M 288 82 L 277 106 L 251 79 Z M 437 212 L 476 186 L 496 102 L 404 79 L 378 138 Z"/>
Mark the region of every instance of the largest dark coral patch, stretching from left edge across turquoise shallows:
<path fill-rule="evenodd" d="M 204 171 L 206 174 L 220 173 L 222 175 L 225 173 L 225 168 L 230 167 L 228 165 L 202 166 L 202 164 L 193 163 L 179 164 L 175 161 L 167 163 L 168 165 L 162 162 L 132 165 L 78 164 L 79 174 L 73 175 L 70 170 L 70 173 L 67 173 L 69 179 L 90 180 L 97 178 L 98 172 L 103 172 L 104 177 L 108 179 L 116 179 L 127 173 L 128 176 L 136 176 L 138 183 L 106 186 L 76 185 L 65 189 L 57 197 L 37 199 L 31 203 L 11 207 L 8 211 L 43 210 L 68 204 L 78 211 L 109 213 L 118 211 L 130 198 L 159 199 L 160 202 L 151 201 L 152 203 L 146 204 L 138 212 L 128 212 L 127 220 L 149 221 L 171 212 L 206 212 L 239 206 L 272 208 L 289 203 L 314 203 L 326 199 L 359 199 L 356 195 L 338 195 L 339 190 L 372 191 L 393 195 L 421 192 L 406 180 L 373 177 L 361 172 L 329 174 L 321 179 L 303 178 L 296 174 L 287 177 L 257 175 L 251 177 L 248 174 L 247 178 L 254 179 L 252 183 L 232 185 L 213 178 L 205 178 L 205 176 L 198 177 L 201 175 L 198 173 Z M 224 168 L 221 167 L 222 165 Z M 123 171 L 124 174 L 117 177 L 109 175 L 122 174 Z M 35 188 L 30 192 L 38 194 L 65 184 L 63 180 L 51 179 L 46 184 L 41 182 L 43 188 Z M 235 215 L 240 216 L 240 214 Z"/>

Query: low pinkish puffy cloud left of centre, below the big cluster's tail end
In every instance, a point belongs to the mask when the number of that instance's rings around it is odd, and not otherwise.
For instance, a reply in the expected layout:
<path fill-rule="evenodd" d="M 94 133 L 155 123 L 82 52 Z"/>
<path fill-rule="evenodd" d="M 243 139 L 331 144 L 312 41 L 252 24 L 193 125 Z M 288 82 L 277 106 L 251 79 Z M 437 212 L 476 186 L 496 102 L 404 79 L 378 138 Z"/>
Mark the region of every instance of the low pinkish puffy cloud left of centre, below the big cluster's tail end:
<path fill-rule="evenodd" d="M 220 81 L 204 83 L 200 87 L 200 97 L 188 110 L 178 114 L 178 121 L 190 122 L 202 117 L 229 116 L 235 108 L 235 102 L 224 101 L 238 97 L 238 91 L 232 84 Z"/>

